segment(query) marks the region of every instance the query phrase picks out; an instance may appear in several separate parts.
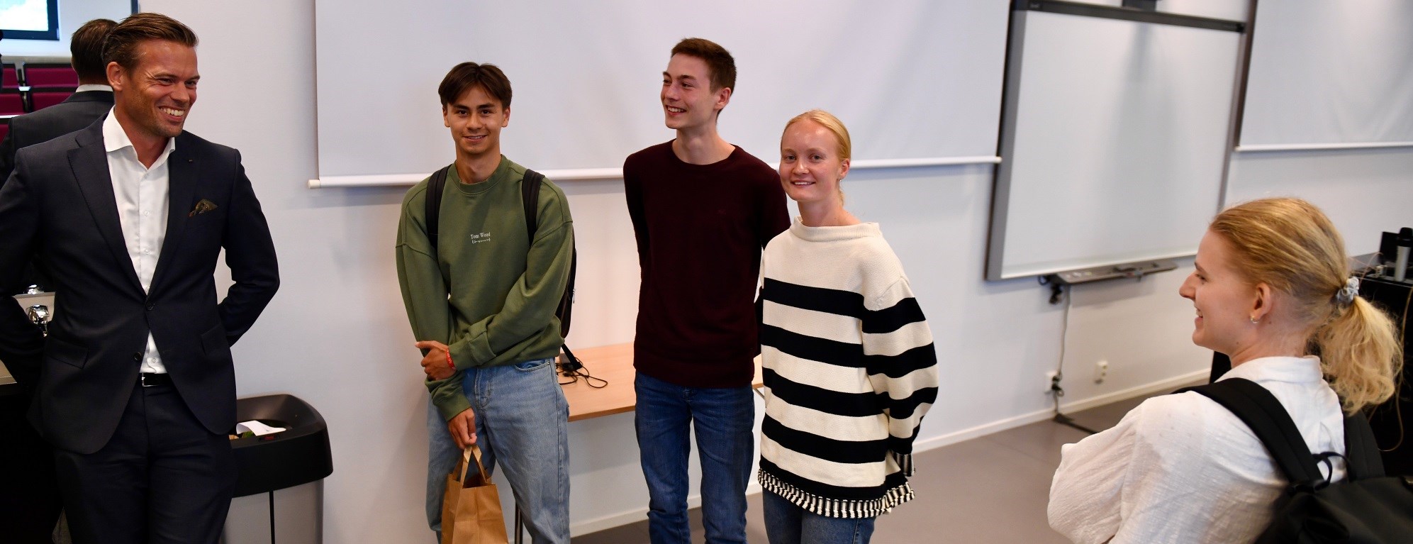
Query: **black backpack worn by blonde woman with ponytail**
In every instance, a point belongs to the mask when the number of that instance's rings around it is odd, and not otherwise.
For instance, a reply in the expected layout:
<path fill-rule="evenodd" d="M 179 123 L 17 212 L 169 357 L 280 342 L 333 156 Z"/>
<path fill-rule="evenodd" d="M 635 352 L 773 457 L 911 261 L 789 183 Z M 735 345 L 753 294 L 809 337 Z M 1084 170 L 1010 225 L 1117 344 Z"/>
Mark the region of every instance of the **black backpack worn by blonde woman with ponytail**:
<path fill-rule="evenodd" d="M 1231 410 L 1266 445 L 1290 486 L 1258 544 L 1413 543 L 1413 482 L 1385 476 L 1373 430 L 1362 414 L 1344 420 L 1345 479 L 1330 483 L 1296 422 L 1265 387 L 1245 379 L 1178 390 L 1197 391 Z"/>

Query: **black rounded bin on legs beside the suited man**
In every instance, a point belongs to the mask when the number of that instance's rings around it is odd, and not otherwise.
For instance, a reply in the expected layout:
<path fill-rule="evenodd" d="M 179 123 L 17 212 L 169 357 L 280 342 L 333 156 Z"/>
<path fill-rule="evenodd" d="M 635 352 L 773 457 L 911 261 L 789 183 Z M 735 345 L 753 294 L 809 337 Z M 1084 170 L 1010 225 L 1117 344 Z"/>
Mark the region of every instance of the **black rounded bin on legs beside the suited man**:
<path fill-rule="evenodd" d="M 222 543 L 322 543 L 324 478 L 333 473 L 324 417 L 290 394 L 237 398 L 236 421 L 250 420 L 285 431 L 230 441 L 240 478 Z"/>

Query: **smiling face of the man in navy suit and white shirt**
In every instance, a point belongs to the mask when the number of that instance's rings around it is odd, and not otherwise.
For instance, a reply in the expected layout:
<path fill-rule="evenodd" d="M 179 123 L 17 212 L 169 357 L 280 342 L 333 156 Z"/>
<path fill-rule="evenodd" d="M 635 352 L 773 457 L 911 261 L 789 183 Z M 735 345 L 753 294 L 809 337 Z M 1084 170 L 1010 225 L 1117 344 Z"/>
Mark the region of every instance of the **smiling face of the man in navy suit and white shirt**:
<path fill-rule="evenodd" d="M 162 141 L 181 134 L 196 103 L 196 49 L 175 41 L 150 40 L 137 45 L 131 69 L 109 62 L 107 79 L 119 122 L 129 137 Z"/>

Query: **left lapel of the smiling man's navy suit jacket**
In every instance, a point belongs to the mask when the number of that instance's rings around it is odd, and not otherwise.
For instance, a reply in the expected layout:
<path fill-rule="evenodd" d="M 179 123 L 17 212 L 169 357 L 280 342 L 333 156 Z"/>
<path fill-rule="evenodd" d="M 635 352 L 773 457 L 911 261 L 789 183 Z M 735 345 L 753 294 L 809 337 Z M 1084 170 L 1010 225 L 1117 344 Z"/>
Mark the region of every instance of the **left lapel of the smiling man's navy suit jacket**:
<path fill-rule="evenodd" d="M 107 171 L 107 153 L 103 150 L 103 123 L 93 123 L 76 136 L 79 147 L 69 151 L 69 168 L 78 181 L 79 192 L 88 203 L 93 223 L 97 225 L 103 242 L 119 263 L 117 268 L 138 291 L 143 290 L 133 268 L 133 257 L 123 243 L 123 222 L 117 218 L 117 199 L 113 196 L 113 178 Z"/>

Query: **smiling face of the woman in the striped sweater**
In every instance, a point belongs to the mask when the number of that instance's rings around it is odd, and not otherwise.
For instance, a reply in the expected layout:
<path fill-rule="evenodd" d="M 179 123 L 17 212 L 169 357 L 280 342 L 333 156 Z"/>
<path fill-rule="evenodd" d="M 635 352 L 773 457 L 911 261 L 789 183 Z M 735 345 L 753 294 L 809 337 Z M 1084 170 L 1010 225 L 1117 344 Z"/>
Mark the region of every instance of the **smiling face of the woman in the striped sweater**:
<path fill-rule="evenodd" d="M 839 198 L 839 181 L 849 174 L 849 160 L 839 155 L 839 140 L 810 119 L 798 120 L 780 137 L 780 184 L 796 202 Z"/>

